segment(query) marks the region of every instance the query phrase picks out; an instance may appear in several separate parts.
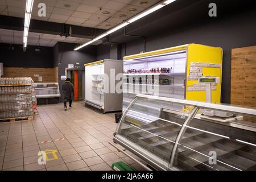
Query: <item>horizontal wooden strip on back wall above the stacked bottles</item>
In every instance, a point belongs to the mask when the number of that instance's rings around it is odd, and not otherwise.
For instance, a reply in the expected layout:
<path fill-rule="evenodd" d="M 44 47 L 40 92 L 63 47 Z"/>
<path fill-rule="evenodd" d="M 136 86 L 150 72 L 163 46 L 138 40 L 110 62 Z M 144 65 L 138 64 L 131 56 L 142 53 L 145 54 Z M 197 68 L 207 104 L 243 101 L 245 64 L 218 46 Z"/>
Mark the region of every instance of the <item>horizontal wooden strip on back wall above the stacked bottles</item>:
<path fill-rule="evenodd" d="M 38 77 L 34 77 L 34 75 L 42 76 L 43 82 L 59 82 L 58 72 L 59 72 L 58 67 L 55 67 L 55 68 L 4 67 L 3 68 L 4 77 L 32 77 L 34 82 L 39 82 Z"/>

